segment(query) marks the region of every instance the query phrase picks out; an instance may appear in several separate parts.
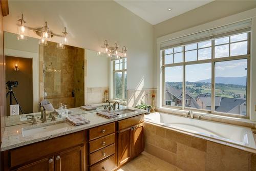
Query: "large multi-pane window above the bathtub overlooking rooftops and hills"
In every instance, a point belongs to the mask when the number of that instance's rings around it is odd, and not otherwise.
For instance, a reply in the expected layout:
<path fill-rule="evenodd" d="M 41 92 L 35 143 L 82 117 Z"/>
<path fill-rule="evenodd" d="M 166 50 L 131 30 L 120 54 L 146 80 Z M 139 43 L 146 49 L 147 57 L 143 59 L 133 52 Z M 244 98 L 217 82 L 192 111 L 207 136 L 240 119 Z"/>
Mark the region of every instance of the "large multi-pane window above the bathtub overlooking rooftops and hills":
<path fill-rule="evenodd" d="M 249 37 L 240 33 L 163 50 L 162 104 L 246 116 Z"/>

